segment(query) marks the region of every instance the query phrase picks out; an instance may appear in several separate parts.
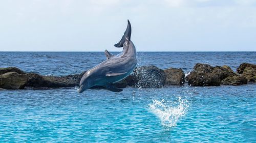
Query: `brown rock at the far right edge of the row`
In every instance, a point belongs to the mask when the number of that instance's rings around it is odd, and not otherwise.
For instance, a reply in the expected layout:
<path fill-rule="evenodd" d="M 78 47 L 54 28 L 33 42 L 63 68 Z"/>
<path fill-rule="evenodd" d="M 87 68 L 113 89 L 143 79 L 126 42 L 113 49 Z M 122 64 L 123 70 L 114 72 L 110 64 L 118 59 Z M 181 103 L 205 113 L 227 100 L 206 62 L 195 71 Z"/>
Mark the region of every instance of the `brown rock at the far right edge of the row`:
<path fill-rule="evenodd" d="M 244 76 L 248 82 L 255 82 L 256 81 L 256 65 L 249 64 L 249 63 L 242 63 L 237 72 Z"/>

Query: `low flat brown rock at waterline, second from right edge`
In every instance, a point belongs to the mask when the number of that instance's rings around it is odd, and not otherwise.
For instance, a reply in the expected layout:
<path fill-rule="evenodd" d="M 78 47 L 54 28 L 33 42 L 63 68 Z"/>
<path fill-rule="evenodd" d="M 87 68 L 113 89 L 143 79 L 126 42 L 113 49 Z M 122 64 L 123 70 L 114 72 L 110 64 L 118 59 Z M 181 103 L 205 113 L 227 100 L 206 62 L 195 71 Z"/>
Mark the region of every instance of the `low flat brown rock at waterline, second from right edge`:
<path fill-rule="evenodd" d="M 227 78 L 221 81 L 221 84 L 228 84 L 228 85 L 242 85 L 247 84 L 247 79 L 243 76 L 228 76 Z"/>

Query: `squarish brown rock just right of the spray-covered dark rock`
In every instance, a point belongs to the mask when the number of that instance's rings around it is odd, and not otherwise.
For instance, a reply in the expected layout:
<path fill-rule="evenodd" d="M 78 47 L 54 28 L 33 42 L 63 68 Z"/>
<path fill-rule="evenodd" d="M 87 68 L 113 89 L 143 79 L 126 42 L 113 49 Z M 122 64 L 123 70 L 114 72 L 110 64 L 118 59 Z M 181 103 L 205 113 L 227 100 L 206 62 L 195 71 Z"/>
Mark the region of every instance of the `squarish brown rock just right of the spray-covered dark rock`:
<path fill-rule="evenodd" d="M 165 84 L 167 85 L 182 85 L 184 83 L 185 74 L 182 69 L 169 68 L 164 70 Z"/>

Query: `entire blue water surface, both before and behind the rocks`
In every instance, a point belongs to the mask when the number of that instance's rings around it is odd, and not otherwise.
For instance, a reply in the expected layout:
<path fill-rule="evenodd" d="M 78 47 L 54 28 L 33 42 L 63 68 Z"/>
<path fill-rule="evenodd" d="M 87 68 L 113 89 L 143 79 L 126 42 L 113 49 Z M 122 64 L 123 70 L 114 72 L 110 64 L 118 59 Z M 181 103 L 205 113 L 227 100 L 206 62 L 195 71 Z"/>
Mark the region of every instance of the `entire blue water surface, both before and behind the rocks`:
<path fill-rule="evenodd" d="M 116 54 L 117 52 L 113 52 Z M 0 67 L 81 73 L 104 52 L 0 52 Z M 256 52 L 138 52 L 138 66 L 256 64 Z M 256 142 L 256 84 L 0 91 L 0 142 Z"/>

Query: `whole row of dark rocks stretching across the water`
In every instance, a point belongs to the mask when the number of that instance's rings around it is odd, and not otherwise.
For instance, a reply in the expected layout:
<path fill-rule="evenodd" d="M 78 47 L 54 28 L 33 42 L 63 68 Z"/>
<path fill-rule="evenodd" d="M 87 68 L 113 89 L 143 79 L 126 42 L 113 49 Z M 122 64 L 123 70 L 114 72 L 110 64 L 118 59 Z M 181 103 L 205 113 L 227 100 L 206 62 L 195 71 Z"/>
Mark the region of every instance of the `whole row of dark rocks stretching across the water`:
<path fill-rule="evenodd" d="M 53 89 L 79 86 L 80 74 L 66 76 L 45 76 L 37 73 L 26 73 L 16 67 L 0 68 L 0 90 L 9 89 Z M 161 88 L 170 85 L 220 86 L 242 85 L 255 82 L 256 65 L 242 63 L 237 72 L 229 66 L 211 66 L 197 63 L 193 71 L 185 77 L 182 69 L 160 69 L 156 66 L 135 68 L 133 74 L 115 83 L 119 88 L 127 86 L 137 88 Z M 100 87 L 94 87 L 100 88 Z"/>

